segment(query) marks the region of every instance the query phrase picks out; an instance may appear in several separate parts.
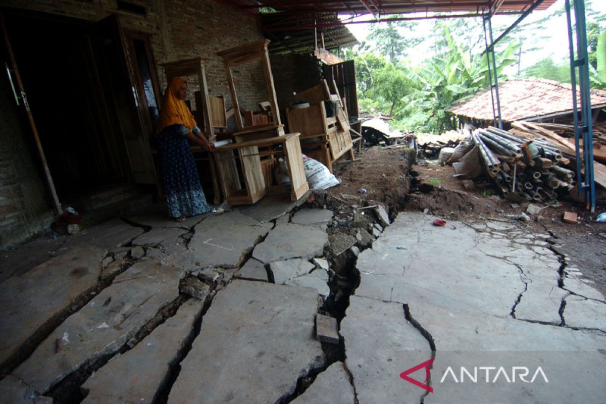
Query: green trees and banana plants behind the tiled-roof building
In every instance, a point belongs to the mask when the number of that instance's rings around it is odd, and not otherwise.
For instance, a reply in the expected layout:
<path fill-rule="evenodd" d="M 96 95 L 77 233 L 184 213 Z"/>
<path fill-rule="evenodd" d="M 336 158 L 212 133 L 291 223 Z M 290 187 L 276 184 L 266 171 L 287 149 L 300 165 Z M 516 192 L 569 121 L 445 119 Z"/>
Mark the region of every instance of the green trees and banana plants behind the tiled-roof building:
<path fill-rule="evenodd" d="M 606 18 L 592 11 L 590 1 L 587 10 L 592 87 L 606 88 L 606 30 L 601 29 Z M 521 69 L 522 58 L 548 46 L 543 22 L 562 13 L 563 7 L 539 22 L 519 25 L 510 42 L 499 43 L 495 54 L 500 82 L 507 79 L 505 71 L 520 78 L 570 82 L 567 58 L 559 62 L 545 58 Z M 442 133 L 458 126 L 448 108 L 488 87 L 482 24 L 478 19 L 436 20 L 427 38 L 416 35 L 416 24 L 371 24 L 368 41 L 345 50 L 345 58 L 356 63 L 361 110 L 387 114 L 391 126 L 400 130 Z M 502 27 L 494 27 L 494 31 L 500 32 Z M 409 53 L 424 41 L 431 44 L 431 55 L 419 61 Z"/>

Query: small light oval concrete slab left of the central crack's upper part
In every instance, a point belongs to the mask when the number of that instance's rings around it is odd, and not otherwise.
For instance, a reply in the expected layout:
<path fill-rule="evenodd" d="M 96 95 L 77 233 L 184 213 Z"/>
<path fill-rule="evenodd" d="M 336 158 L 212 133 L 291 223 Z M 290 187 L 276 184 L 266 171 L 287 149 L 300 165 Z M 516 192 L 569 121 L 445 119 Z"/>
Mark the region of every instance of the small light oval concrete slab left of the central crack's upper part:
<path fill-rule="evenodd" d="M 313 226 L 297 224 L 277 225 L 253 250 L 253 257 L 261 262 L 322 256 L 328 235 Z"/>

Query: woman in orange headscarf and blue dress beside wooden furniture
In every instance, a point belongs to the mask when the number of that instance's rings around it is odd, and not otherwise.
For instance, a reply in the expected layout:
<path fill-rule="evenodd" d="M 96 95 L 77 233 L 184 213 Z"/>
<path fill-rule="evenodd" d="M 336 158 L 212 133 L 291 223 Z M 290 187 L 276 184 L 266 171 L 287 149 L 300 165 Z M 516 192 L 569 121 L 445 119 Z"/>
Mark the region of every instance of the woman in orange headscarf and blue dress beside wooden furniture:
<path fill-rule="evenodd" d="M 178 222 L 185 220 L 185 216 L 196 216 L 211 210 L 202 191 L 188 141 L 200 145 L 202 150 L 215 150 L 215 145 L 204 137 L 196 125 L 185 105 L 186 98 L 185 79 L 172 78 L 164 94 L 156 128 L 168 214 Z"/>

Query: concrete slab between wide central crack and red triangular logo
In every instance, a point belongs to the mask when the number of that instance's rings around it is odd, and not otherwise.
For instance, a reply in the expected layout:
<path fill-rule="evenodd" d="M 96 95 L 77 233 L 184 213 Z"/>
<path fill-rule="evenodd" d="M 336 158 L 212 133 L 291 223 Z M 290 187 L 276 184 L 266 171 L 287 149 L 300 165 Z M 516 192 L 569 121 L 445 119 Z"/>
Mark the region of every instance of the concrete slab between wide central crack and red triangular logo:
<path fill-rule="evenodd" d="M 419 402 L 424 390 L 398 375 L 430 359 L 431 349 L 401 304 L 352 296 L 341 335 L 360 404 Z"/>

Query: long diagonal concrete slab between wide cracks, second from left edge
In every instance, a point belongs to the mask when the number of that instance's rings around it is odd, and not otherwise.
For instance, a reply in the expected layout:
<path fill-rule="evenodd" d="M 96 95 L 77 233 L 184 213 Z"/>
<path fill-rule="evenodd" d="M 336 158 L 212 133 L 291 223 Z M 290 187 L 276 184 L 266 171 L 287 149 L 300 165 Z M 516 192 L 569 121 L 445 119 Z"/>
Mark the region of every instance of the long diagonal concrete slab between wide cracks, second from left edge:
<path fill-rule="evenodd" d="M 178 297 L 181 276 L 179 268 L 157 261 L 136 263 L 61 323 L 12 374 L 44 394 L 85 362 L 115 353 Z"/>

